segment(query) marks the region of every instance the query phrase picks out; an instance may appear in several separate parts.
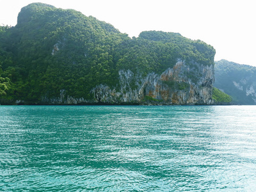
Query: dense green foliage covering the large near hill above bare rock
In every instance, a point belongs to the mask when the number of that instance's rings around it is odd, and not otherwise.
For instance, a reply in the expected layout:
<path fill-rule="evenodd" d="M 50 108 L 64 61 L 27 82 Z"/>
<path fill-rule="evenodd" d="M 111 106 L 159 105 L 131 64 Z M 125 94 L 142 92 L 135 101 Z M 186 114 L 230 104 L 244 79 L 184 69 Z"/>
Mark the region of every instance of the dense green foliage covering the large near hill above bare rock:
<path fill-rule="evenodd" d="M 129 38 L 111 24 L 75 10 L 33 3 L 22 8 L 17 26 L 0 28 L 1 98 L 39 102 L 65 90 L 92 99 L 99 84 L 116 86 L 118 70 L 161 73 L 178 59 L 214 63 L 215 50 L 178 33 L 145 31 Z"/>

